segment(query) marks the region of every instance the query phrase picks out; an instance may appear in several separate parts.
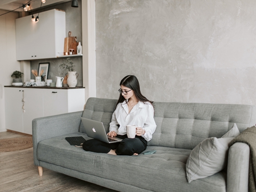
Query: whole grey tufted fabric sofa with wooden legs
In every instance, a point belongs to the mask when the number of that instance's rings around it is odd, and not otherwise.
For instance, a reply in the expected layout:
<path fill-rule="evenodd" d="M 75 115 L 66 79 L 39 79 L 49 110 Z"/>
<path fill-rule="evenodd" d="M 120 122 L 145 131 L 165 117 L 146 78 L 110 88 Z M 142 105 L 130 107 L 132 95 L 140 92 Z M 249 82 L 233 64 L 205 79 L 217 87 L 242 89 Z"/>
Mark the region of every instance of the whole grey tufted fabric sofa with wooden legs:
<path fill-rule="evenodd" d="M 236 123 L 240 132 L 256 123 L 250 105 L 155 102 L 157 128 L 147 150 L 156 154 L 113 156 L 70 146 L 65 137 L 87 137 L 80 117 L 103 122 L 106 132 L 117 100 L 89 98 L 85 110 L 33 120 L 34 163 L 118 191 L 248 191 L 250 149 L 229 148 L 227 169 L 188 183 L 191 150 L 210 137 L 220 138 Z M 82 114 L 83 113 L 83 114 Z"/>

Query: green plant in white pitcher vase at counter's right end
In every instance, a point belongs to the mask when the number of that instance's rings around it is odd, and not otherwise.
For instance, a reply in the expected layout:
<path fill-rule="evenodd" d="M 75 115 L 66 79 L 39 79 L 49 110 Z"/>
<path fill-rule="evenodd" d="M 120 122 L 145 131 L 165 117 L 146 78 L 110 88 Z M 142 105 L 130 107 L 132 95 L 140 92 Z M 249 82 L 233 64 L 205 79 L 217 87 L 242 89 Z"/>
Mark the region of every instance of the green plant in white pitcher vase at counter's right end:
<path fill-rule="evenodd" d="M 67 84 L 68 84 L 69 87 L 75 87 L 77 85 L 78 73 L 76 73 L 76 71 L 75 71 L 75 65 L 74 65 L 73 61 L 71 61 L 70 58 L 67 58 L 59 66 L 59 68 L 62 68 L 64 70 L 68 71 L 68 75 L 66 74 Z M 77 76 L 76 76 L 76 74 L 77 74 Z M 63 81 L 64 86 L 65 86 L 65 83 L 66 82 Z"/>

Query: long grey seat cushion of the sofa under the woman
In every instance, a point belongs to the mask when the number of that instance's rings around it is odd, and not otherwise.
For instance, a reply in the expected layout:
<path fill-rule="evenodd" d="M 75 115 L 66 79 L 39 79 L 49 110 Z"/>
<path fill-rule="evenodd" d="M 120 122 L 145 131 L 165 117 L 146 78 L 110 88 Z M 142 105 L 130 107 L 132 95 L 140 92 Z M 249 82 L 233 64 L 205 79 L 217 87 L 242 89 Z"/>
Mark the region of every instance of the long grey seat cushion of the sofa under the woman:
<path fill-rule="evenodd" d="M 156 150 L 155 154 L 114 156 L 84 151 L 70 146 L 65 140 L 65 137 L 81 135 L 89 139 L 84 133 L 75 133 L 39 142 L 39 163 L 43 161 L 59 165 L 150 191 L 179 191 L 181 188 L 183 191 L 204 191 L 205 188 L 207 191 L 226 191 L 224 172 L 187 182 L 186 162 L 191 153 L 189 149 L 152 146 L 146 150 Z"/>

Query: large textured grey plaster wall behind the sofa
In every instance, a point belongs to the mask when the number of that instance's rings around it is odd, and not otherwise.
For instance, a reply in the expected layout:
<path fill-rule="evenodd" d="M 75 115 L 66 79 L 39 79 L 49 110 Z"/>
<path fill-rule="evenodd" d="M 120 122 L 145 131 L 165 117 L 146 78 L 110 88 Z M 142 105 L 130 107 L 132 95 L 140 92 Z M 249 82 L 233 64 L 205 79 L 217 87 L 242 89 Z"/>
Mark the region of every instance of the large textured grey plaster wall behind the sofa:
<path fill-rule="evenodd" d="M 256 105 L 256 1 L 97 0 L 97 97 Z"/>

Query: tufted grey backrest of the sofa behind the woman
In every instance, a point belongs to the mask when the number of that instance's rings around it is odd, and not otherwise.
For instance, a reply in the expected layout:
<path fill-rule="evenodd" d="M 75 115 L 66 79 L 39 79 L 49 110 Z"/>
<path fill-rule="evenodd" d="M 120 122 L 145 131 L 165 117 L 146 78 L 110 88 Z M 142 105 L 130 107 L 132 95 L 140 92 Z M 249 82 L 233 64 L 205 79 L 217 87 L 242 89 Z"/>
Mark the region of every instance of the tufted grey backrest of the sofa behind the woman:
<path fill-rule="evenodd" d="M 117 100 L 90 98 L 83 117 L 100 121 L 109 129 Z M 193 149 L 209 137 L 220 138 L 234 123 L 240 132 L 256 123 L 251 105 L 154 102 L 156 131 L 149 146 Z M 81 132 L 85 132 L 83 125 Z"/>

